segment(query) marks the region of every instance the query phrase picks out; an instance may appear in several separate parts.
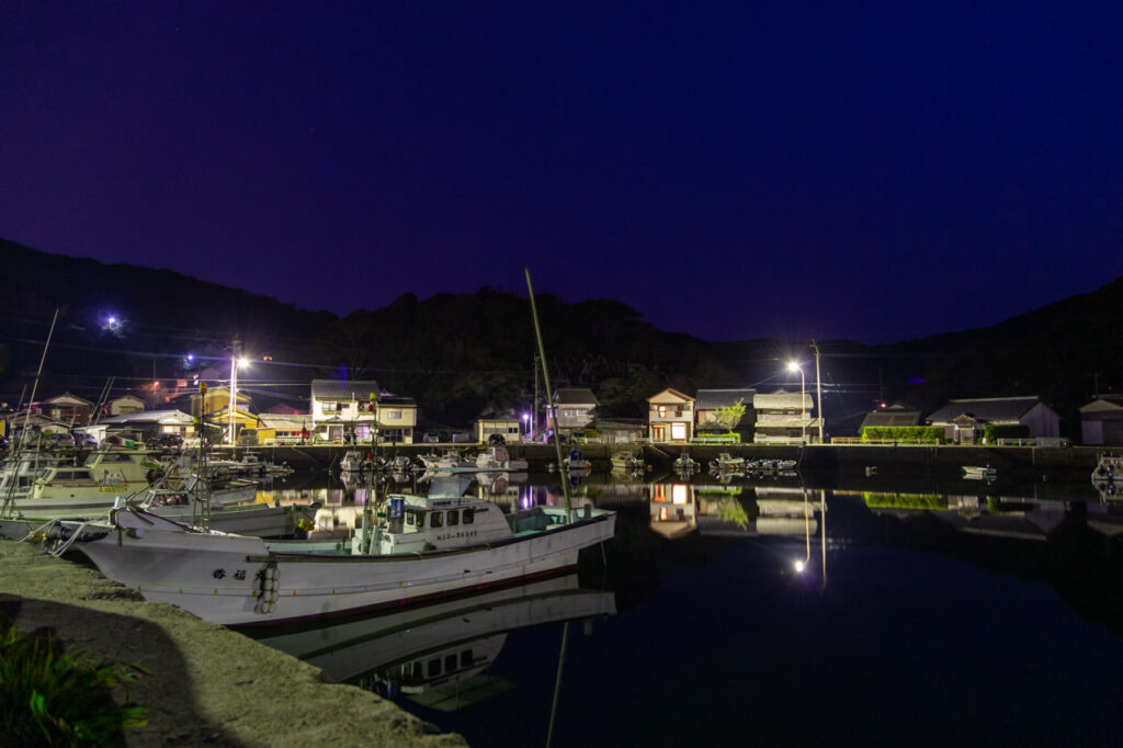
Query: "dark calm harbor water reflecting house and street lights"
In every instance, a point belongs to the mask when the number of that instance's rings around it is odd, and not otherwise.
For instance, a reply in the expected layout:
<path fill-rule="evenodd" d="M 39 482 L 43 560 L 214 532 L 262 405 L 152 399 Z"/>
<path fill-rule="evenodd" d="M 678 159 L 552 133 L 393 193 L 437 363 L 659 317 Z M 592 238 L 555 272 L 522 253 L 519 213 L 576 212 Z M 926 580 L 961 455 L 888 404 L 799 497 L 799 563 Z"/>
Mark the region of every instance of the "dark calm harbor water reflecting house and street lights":
<path fill-rule="evenodd" d="M 564 501 L 545 474 L 404 486 Z M 473 746 L 546 745 L 551 717 L 556 746 L 1123 745 L 1123 505 L 1090 485 L 572 487 L 620 513 L 577 575 L 255 636 Z M 369 494 L 326 473 L 262 494 L 304 496 L 328 527 Z"/>

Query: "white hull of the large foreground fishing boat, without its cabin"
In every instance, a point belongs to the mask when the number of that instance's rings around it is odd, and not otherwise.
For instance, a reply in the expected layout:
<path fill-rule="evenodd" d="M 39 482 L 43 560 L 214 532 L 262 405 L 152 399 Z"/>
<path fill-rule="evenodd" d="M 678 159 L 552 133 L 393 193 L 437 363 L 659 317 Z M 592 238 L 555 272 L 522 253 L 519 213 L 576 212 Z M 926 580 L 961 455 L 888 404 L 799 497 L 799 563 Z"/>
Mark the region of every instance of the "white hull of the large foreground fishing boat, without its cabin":
<path fill-rule="evenodd" d="M 582 548 L 612 538 L 615 514 L 458 550 L 402 556 L 344 555 L 340 542 L 186 532 L 137 523 L 74 545 L 107 577 L 152 602 L 226 626 L 331 618 L 485 590 L 575 567 Z M 144 519 L 141 517 L 141 519 Z M 291 550 L 290 550 L 291 549 Z"/>

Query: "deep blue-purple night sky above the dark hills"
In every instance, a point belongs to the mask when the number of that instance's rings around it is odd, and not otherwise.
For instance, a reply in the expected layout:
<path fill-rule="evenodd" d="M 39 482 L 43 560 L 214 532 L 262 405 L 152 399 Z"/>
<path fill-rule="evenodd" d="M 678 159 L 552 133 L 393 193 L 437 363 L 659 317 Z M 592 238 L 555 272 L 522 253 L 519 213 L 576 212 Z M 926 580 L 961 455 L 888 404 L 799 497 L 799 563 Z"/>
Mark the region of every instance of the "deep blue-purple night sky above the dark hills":
<path fill-rule="evenodd" d="M 1123 3 L 0 4 L 0 236 L 892 341 L 1123 274 Z"/>

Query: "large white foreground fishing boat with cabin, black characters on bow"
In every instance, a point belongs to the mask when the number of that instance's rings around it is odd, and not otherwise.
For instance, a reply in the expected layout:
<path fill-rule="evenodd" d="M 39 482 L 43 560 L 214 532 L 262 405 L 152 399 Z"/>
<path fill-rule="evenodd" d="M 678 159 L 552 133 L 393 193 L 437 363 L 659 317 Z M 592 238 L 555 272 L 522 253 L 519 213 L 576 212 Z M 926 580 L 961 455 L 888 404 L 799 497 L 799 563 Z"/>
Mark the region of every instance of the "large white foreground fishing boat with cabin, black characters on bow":
<path fill-rule="evenodd" d="M 481 499 L 392 495 L 391 518 L 328 540 L 201 532 L 118 509 L 75 538 L 107 577 L 203 620 L 275 624 L 432 601 L 573 568 L 613 537 L 615 513 L 536 507 L 504 516 Z M 174 559 L 174 563 L 170 563 Z"/>

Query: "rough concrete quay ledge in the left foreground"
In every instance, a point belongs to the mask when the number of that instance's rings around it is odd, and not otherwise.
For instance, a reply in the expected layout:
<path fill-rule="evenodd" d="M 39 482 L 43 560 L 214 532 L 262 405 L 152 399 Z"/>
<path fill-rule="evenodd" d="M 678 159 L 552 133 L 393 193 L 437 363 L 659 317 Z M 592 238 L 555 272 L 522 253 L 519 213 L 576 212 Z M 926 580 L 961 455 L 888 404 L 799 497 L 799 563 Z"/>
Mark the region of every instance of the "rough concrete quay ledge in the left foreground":
<path fill-rule="evenodd" d="M 173 605 L 145 602 L 97 571 L 0 540 L 0 611 L 25 631 L 118 663 L 118 694 L 148 710 L 128 746 L 465 746 L 381 696 Z"/>

